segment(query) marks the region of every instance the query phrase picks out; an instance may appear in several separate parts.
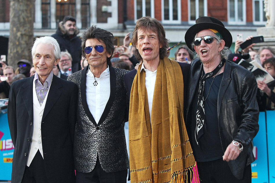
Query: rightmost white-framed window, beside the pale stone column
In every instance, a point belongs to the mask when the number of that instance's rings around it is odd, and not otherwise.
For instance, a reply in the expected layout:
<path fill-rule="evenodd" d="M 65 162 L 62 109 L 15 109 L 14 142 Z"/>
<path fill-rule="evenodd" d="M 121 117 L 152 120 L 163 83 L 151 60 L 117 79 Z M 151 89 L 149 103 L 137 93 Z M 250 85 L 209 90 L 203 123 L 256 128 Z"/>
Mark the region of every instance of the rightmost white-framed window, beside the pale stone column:
<path fill-rule="evenodd" d="M 253 23 L 264 25 L 266 23 L 264 0 L 253 0 Z"/>

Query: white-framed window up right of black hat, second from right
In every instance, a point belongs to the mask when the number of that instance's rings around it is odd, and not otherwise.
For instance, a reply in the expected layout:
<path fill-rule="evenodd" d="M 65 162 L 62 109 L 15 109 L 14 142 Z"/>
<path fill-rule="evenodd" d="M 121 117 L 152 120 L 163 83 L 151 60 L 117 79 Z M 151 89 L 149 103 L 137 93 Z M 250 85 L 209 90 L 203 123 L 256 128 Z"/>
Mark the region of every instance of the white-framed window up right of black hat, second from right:
<path fill-rule="evenodd" d="M 245 24 L 246 23 L 246 1 L 245 0 L 228 0 L 228 24 Z"/>

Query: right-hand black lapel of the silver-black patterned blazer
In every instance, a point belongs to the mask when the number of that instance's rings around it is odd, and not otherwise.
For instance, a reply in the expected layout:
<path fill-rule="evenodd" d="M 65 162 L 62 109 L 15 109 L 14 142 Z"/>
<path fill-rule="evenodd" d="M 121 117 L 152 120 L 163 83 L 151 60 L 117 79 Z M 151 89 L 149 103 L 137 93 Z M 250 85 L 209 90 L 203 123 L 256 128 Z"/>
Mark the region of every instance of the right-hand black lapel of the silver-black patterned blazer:
<path fill-rule="evenodd" d="M 106 119 L 107 115 L 110 112 L 110 109 L 114 103 L 115 95 L 116 95 L 116 74 L 115 69 L 113 67 L 109 67 L 110 70 L 110 98 L 106 104 L 106 107 L 99 119 L 98 126 L 101 125 Z"/>

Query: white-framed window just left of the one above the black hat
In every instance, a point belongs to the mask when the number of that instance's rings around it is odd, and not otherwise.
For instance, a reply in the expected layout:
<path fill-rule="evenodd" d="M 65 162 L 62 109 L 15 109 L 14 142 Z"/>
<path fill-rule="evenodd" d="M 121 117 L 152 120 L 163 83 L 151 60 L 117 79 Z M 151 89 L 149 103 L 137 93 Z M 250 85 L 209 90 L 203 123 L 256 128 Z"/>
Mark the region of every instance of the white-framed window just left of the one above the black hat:
<path fill-rule="evenodd" d="M 161 7 L 161 19 L 163 23 L 180 23 L 180 0 L 162 0 Z"/>

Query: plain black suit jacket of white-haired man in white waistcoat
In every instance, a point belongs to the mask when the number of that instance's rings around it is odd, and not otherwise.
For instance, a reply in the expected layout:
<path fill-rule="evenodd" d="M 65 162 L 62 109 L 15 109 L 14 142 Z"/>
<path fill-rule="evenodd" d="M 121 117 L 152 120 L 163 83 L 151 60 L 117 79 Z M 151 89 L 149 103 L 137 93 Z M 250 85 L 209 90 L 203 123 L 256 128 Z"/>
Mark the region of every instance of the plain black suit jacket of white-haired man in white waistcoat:
<path fill-rule="evenodd" d="M 8 123 L 14 145 L 12 182 L 21 182 L 33 131 L 33 79 L 12 83 Z M 53 75 L 41 123 L 42 146 L 49 182 L 75 182 L 73 139 L 77 86 Z"/>

